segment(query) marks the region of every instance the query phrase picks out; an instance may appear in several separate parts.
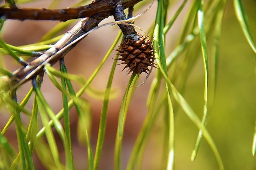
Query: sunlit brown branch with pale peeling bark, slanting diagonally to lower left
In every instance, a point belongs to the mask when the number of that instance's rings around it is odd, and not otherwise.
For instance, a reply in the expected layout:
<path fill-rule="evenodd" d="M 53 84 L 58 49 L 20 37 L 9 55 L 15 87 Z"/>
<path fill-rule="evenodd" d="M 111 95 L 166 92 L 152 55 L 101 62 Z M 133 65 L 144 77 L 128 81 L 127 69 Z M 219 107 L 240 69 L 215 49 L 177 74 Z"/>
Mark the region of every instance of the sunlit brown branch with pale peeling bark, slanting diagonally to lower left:
<path fill-rule="evenodd" d="M 108 5 L 107 2 L 108 1 Z M 99 0 L 93 2 L 92 4 L 98 3 L 98 7 L 96 9 L 91 9 L 92 11 L 96 10 L 98 13 L 95 15 L 81 19 L 71 30 L 69 30 L 58 42 L 56 42 L 53 47 L 45 51 L 40 57 L 34 59 L 26 67 L 22 67 L 13 72 L 12 85 L 10 90 L 14 90 L 18 88 L 20 85 L 25 83 L 26 81 L 32 79 L 32 77 L 38 75 L 43 72 L 44 65 L 49 63 L 53 65 L 58 60 L 60 60 L 68 51 L 70 51 L 74 46 L 76 46 L 80 41 L 72 44 L 70 47 L 68 46 L 78 37 L 86 34 L 88 31 L 92 30 L 96 26 L 98 26 L 99 22 L 111 16 L 115 12 L 115 8 L 118 4 L 123 4 L 124 8 L 128 8 L 130 6 L 134 6 L 134 4 L 140 2 L 141 0 Z M 91 5 L 88 5 L 92 7 Z M 103 5 L 105 4 L 105 5 Z M 102 6 L 108 6 L 108 10 L 102 10 Z M 68 46 L 68 48 L 65 48 Z M 64 49 L 64 50 L 62 50 Z"/>

